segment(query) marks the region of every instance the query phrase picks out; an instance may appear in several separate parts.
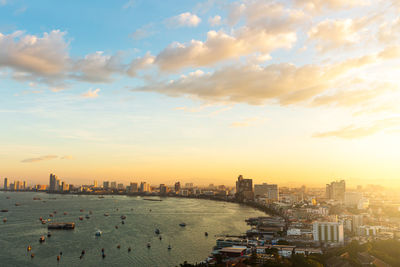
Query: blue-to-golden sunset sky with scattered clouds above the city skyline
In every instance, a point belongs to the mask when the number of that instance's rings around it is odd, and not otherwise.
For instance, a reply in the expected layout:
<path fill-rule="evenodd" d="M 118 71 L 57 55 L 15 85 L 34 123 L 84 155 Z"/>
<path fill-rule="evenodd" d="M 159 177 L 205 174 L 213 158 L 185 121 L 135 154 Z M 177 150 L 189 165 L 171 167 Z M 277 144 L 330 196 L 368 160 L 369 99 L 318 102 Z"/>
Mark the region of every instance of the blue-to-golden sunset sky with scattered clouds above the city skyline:
<path fill-rule="evenodd" d="M 0 0 L 0 177 L 400 186 L 399 0 Z"/>

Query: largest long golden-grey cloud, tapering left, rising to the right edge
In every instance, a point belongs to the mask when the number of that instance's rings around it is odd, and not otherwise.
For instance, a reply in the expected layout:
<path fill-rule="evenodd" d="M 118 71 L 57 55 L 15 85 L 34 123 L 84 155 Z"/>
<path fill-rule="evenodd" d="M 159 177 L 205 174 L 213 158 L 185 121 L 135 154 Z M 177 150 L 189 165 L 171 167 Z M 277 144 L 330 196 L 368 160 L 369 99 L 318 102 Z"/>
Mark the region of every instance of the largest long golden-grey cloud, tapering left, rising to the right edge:
<path fill-rule="evenodd" d="M 134 91 L 159 92 L 179 97 L 190 96 L 210 102 L 241 102 L 261 105 L 267 101 L 281 105 L 310 101 L 331 89 L 334 82 L 349 71 L 400 56 L 396 48 L 350 58 L 329 65 L 295 66 L 289 63 L 259 66 L 238 64 L 214 72 L 182 75 L 169 82 L 152 82 Z"/>

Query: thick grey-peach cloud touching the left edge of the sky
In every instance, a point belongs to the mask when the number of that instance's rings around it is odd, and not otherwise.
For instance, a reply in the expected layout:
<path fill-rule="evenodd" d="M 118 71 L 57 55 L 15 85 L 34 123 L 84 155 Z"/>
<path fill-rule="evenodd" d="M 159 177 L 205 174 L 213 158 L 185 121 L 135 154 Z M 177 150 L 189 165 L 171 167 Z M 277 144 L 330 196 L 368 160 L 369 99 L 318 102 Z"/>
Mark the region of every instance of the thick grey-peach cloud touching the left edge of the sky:
<path fill-rule="evenodd" d="M 68 67 L 65 32 L 44 33 L 42 37 L 16 31 L 0 33 L 0 67 L 41 76 L 62 75 Z"/>

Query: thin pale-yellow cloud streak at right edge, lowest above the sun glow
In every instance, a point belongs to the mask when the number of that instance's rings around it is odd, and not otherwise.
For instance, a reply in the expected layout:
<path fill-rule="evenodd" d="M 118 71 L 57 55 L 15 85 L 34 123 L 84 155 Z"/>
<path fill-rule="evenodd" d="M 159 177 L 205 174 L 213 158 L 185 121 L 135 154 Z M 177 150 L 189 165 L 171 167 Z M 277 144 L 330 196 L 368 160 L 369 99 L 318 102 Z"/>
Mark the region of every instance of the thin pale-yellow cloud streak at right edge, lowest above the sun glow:
<path fill-rule="evenodd" d="M 315 133 L 313 137 L 338 137 L 343 139 L 355 139 L 367 137 L 386 129 L 392 129 L 393 127 L 397 127 L 399 125 L 400 117 L 393 117 L 374 121 L 372 124 L 366 126 L 356 126 L 353 124 L 334 131 Z"/>

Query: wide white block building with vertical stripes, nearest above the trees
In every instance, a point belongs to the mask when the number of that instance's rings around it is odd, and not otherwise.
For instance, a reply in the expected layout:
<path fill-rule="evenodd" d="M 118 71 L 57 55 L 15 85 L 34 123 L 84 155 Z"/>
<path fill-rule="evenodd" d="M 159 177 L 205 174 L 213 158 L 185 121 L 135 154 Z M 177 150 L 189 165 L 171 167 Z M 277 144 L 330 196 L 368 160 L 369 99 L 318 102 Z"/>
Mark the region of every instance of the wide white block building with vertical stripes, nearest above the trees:
<path fill-rule="evenodd" d="M 342 222 L 314 222 L 314 241 L 321 243 L 343 243 L 344 230 Z"/>

